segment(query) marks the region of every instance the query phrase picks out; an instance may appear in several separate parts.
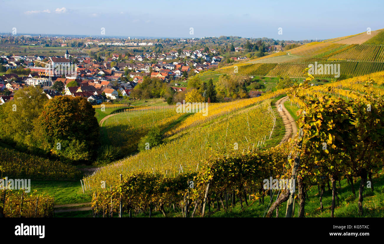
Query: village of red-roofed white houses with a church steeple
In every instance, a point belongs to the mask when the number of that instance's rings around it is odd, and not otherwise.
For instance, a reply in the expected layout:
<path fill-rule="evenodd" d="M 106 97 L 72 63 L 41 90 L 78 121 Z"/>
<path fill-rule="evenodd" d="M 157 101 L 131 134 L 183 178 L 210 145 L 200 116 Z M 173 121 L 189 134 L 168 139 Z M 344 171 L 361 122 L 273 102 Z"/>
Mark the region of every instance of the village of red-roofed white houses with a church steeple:
<path fill-rule="evenodd" d="M 185 87 L 178 86 L 177 81 L 184 81 L 193 74 L 217 68 L 223 58 L 209 55 L 218 55 L 215 50 L 209 50 L 209 53 L 205 51 L 170 51 L 159 55 L 143 53 L 127 58 L 126 54 L 114 53 L 104 61 L 87 55 L 71 56 L 68 49 L 64 56 L 0 56 L 3 67 L 7 71 L 11 69 L 0 76 L 0 92 L 3 94 L 0 95 L 0 104 L 11 101 L 14 92 L 25 86 L 41 87 L 49 99 L 66 95 L 86 97 L 92 104 L 113 102 L 129 97 L 131 90 L 145 76 L 174 84 L 174 91 L 185 91 Z M 204 61 L 197 63 L 194 61 L 196 59 Z M 73 67 L 71 60 L 76 60 L 75 69 L 66 69 Z M 12 73 L 12 70 L 20 67 L 25 69 L 27 76 Z M 56 72 L 57 70 L 60 72 Z M 60 82 L 63 86 L 54 86 Z"/>

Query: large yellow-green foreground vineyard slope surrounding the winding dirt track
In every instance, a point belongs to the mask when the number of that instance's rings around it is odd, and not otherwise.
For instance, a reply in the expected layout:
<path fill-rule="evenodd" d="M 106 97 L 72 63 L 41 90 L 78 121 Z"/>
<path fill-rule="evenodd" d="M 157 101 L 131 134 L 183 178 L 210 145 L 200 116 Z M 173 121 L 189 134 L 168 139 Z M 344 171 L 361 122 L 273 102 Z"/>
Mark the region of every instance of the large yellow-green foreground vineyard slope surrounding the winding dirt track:
<path fill-rule="evenodd" d="M 256 200 L 263 205 L 268 197 L 272 202 L 261 216 L 271 217 L 290 196 L 288 190 L 263 188 L 262 179 L 271 176 L 297 177 L 300 217 L 305 214 L 305 196 L 314 187 L 319 211 L 333 217 L 340 203 L 338 198 L 330 208 L 324 206 L 327 184 L 338 196 L 340 181 L 352 182 L 357 197 L 353 181 L 372 182 L 382 175 L 384 141 L 379 138 L 384 132 L 377 128 L 384 126 L 383 84 L 384 72 L 379 72 L 324 86 L 304 84 L 237 103 L 210 104 L 209 116 L 196 113 L 166 132 L 167 143 L 84 178 L 84 190 L 93 196 L 93 216 L 131 217 L 148 211 L 149 216 L 153 211 L 168 216 L 180 211 L 184 217 L 203 217 L 206 208 L 227 211 L 239 201 L 245 209 Z M 271 129 L 276 126 L 275 112 L 268 104 L 280 94 L 288 94 L 291 104 L 299 106 L 300 132 L 295 140 L 271 147 L 278 143 Z M 367 133 L 358 133 L 362 128 Z M 373 153 L 367 155 L 366 150 Z M 358 214 L 363 215 L 364 187 L 358 191 Z"/>

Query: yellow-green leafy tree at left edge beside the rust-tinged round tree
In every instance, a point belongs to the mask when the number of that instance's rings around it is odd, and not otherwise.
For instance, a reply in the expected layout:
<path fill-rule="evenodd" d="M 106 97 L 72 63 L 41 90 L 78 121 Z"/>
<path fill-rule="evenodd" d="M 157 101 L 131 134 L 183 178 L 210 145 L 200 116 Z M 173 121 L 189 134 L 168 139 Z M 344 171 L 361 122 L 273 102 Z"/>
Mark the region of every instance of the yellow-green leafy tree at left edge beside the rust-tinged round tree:
<path fill-rule="evenodd" d="M 16 91 L 13 100 L 1 106 L 1 137 L 15 143 L 17 148 L 31 149 L 36 119 L 47 101 L 40 87 L 28 86 Z"/>

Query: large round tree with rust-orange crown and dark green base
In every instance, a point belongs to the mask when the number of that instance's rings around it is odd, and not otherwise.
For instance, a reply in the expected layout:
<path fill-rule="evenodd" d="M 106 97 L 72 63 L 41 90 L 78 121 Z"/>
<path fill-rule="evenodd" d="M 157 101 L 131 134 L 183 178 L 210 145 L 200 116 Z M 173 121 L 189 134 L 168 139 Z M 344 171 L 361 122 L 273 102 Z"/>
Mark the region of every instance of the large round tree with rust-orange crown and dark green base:
<path fill-rule="evenodd" d="M 38 118 L 36 138 L 47 152 L 66 161 L 89 162 L 99 147 L 95 109 L 84 97 L 56 96 Z"/>

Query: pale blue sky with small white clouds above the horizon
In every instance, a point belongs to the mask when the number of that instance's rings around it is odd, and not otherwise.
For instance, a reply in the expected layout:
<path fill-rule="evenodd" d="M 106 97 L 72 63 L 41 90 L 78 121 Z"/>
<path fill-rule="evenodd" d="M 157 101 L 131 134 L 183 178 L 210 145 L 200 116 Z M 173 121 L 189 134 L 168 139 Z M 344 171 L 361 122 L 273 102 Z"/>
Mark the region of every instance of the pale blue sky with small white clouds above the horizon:
<path fill-rule="evenodd" d="M 384 28 L 383 0 L 0 0 L 0 32 L 324 40 Z M 193 28 L 193 29 L 191 29 Z M 280 34 L 279 35 L 279 28 Z"/>

